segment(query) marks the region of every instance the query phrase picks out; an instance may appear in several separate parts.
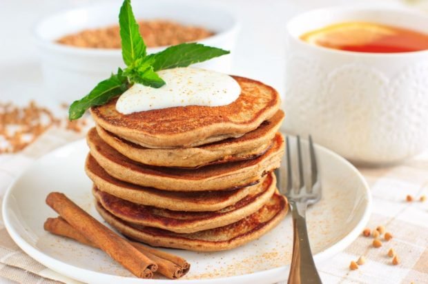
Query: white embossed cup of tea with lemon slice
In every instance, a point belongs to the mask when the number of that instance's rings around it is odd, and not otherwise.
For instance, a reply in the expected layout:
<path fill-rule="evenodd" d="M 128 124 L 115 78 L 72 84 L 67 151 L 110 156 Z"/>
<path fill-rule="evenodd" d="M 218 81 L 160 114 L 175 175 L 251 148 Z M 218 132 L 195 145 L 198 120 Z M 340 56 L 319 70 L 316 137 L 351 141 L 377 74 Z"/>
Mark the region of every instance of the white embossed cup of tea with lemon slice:
<path fill-rule="evenodd" d="M 404 8 L 324 8 L 289 21 L 283 130 L 360 164 L 428 146 L 428 17 Z"/>

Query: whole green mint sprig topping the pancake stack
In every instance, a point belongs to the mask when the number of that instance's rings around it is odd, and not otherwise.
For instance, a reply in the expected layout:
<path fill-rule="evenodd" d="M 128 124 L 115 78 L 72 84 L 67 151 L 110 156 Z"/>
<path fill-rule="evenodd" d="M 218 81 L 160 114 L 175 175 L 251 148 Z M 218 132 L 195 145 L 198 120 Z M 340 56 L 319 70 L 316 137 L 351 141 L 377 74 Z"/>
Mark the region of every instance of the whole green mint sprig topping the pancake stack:
<path fill-rule="evenodd" d="M 156 71 L 187 67 L 230 53 L 200 43 L 182 43 L 147 55 L 146 44 L 139 33 L 130 0 L 124 0 L 120 8 L 119 27 L 122 57 L 127 67 L 124 70 L 119 68 L 117 74 L 112 74 L 110 78 L 98 83 L 85 97 L 73 102 L 68 110 L 70 121 L 79 119 L 90 107 L 108 103 L 110 99 L 123 94 L 134 83 L 152 88 L 162 87 L 165 81 Z"/>

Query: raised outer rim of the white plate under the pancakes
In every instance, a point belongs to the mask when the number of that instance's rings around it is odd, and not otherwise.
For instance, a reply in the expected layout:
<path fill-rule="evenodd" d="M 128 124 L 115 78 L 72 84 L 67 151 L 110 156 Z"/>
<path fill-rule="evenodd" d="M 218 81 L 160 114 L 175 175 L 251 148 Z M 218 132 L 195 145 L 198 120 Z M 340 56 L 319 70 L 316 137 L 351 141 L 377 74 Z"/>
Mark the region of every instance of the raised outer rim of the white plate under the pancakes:
<path fill-rule="evenodd" d="M 284 134 L 284 133 L 283 133 Z M 289 135 L 291 137 L 294 137 L 293 135 Z M 302 139 L 304 141 L 304 139 Z M 84 268 L 76 267 L 74 265 L 70 265 L 68 263 L 64 263 L 62 261 L 59 261 L 57 258 L 53 258 L 51 256 L 48 256 L 47 254 L 43 253 L 40 250 L 37 250 L 36 247 L 32 246 L 30 243 L 26 242 L 23 237 L 19 235 L 18 232 L 14 230 L 14 226 L 9 220 L 9 214 L 8 214 L 8 208 L 7 204 L 10 200 L 10 196 L 13 192 L 14 186 L 16 183 L 22 178 L 26 172 L 31 170 L 35 167 L 37 161 L 40 161 L 41 159 L 45 158 L 49 155 L 54 155 L 56 152 L 60 152 L 63 150 L 63 148 L 70 148 L 75 145 L 79 144 L 86 144 L 85 139 L 79 139 L 77 141 L 73 141 L 70 143 L 66 143 L 65 145 L 62 145 L 59 148 L 56 148 L 46 154 L 43 154 L 43 156 L 40 156 L 39 158 L 35 159 L 35 161 L 32 162 L 32 164 L 23 170 L 19 176 L 17 176 L 8 189 L 6 190 L 6 194 L 3 196 L 3 202 L 2 202 L 2 208 L 1 208 L 1 214 L 3 216 L 3 223 L 6 227 L 6 230 L 12 240 L 23 250 L 23 252 L 26 252 L 30 257 L 34 258 L 36 261 L 41 263 L 42 265 L 45 265 L 50 270 L 53 270 L 55 272 L 58 272 L 60 274 L 63 274 L 64 276 L 67 276 L 69 278 L 72 278 L 73 280 L 77 281 L 85 281 L 84 277 L 79 277 L 79 275 L 83 276 L 90 276 L 90 278 L 106 278 L 106 276 L 109 278 L 110 281 L 114 283 L 114 281 L 126 281 L 127 283 L 154 283 L 153 281 L 156 281 L 156 283 L 159 284 L 167 284 L 171 283 L 171 280 L 169 279 L 142 279 L 142 278 L 130 278 L 127 276 L 119 276 L 119 275 L 113 275 L 113 274 L 106 274 L 101 272 L 94 272 L 93 270 L 86 270 Z M 315 264 L 319 263 L 321 261 L 324 261 L 329 256 L 338 254 L 339 252 L 342 252 L 347 246 L 349 246 L 354 240 L 357 239 L 357 237 L 361 234 L 364 227 L 369 222 L 369 218 L 371 216 L 372 212 L 372 196 L 370 193 L 370 187 L 364 179 L 364 176 L 358 171 L 358 169 L 347 159 L 344 159 L 339 154 L 333 152 L 332 150 L 329 150 L 328 148 L 325 148 L 322 145 L 318 145 L 315 143 L 315 149 L 321 150 L 325 154 L 330 155 L 333 159 L 338 159 L 342 163 L 346 164 L 347 167 L 358 176 L 358 179 L 360 179 L 362 185 L 363 185 L 363 192 L 365 194 L 365 201 L 366 201 L 366 208 L 364 210 L 364 213 L 362 214 L 362 218 L 355 227 L 349 232 L 346 236 L 344 236 L 342 239 L 331 245 L 331 247 L 328 247 L 326 250 L 322 250 L 321 252 L 318 252 L 318 254 L 315 254 L 313 256 L 315 260 Z M 202 283 L 202 284 L 211 284 L 211 283 L 248 283 L 248 281 L 263 281 L 266 280 L 266 275 L 269 274 L 269 279 L 273 279 L 273 281 L 284 281 L 286 277 L 288 276 L 289 271 L 289 265 L 282 265 L 280 267 L 271 268 L 269 270 L 262 270 L 258 272 L 253 272 L 249 274 L 242 274 L 242 275 L 235 275 L 235 276 L 229 276 L 229 277 L 220 277 L 220 278 L 209 278 L 209 279 L 182 279 L 179 280 L 180 283 Z M 71 271 L 74 270 L 74 273 Z M 87 278 L 86 278 L 87 279 Z M 105 283 L 103 281 L 103 283 Z"/>

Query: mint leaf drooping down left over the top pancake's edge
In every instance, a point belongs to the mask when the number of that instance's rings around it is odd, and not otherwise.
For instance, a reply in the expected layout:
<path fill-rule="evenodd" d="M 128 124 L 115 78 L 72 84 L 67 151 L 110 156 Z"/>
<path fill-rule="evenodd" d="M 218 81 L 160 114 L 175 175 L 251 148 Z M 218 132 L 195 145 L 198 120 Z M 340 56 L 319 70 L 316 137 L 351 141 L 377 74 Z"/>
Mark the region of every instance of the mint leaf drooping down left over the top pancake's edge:
<path fill-rule="evenodd" d="M 110 78 L 101 81 L 86 95 L 86 97 L 75 101 L 68 109 L 68 119 L 70 121 L 81 118 L 88 108 L 95 105 L 104 105 L 113 97 L 122 94 L 128 89 L 128 78 L 124 77 L 119 68 L 117 74 L 112 74 Z"/>

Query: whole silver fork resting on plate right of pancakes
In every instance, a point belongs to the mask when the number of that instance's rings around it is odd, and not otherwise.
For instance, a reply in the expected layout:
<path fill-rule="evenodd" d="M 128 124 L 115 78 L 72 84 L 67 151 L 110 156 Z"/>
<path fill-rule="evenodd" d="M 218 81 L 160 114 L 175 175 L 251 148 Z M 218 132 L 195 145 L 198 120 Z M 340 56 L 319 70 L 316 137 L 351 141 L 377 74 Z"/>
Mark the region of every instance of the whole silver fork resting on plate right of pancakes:
<path fill-rule="evenodd" d="M 302 150 L 300 146 L 300 136 L 297 137 L 298 151 L 298 185 L 293 187 L 293 174 L 290 156 L 289 137 L 286 137 L 286 172 L 284 166 L 276 170 L 278 176 L 279 189 L 289 200 L 291 216 L 293 218 L 293 257 L 288 283 L 322 283 L 318 271 L 313 262 L 311 246 L 306 225 L 306 210 L 310 204 L 317 203 L 321 199 L 321 183 L 318 176 L 318 167 L 315 159 L 312 138 L 309 136 L 309 156 L 311 160 L 310 184 L 304 183 L 304 171 L 302 163 Z M 287 183 L 284 184 L 285 176 Z"/>

